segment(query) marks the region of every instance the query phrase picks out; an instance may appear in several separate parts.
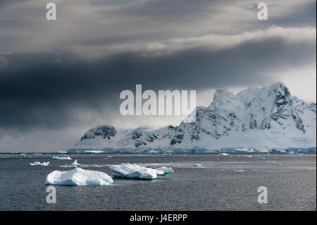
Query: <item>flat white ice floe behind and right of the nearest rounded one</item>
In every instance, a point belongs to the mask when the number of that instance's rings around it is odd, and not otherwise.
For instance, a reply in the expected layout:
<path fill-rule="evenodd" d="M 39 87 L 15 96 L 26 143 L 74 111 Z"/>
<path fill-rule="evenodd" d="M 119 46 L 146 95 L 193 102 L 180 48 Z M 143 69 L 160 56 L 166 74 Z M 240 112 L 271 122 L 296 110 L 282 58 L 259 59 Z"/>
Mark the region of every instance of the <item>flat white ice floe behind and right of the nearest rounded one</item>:
<path fill-rule="evenodd" d="M 157 176 L 163 176 L 173 173 L 172 168 L 165 166 L 151 169 L 145 166 L 139 166 L 137 164 L 120 164 L 111 165 L 109 168 L 113 171 L 113 176 L 115 178 L 132 178 L 132 179 L 145 179 L 153 180 Z"/>

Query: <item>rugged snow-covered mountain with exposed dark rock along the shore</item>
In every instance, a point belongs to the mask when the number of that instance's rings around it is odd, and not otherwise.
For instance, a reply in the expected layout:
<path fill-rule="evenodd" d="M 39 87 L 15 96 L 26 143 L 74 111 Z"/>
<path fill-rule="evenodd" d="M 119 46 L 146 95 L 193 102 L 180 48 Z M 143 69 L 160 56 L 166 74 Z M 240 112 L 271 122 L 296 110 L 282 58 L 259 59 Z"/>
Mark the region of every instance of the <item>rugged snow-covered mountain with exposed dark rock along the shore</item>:
<path fill-rule="evenodd" d="M 248 88 L 237 95 L 217 90 L 196 120 L 160 129 L 88 130 L 69 152 L 316 152 L 316 103 L 282 84 Z"/>

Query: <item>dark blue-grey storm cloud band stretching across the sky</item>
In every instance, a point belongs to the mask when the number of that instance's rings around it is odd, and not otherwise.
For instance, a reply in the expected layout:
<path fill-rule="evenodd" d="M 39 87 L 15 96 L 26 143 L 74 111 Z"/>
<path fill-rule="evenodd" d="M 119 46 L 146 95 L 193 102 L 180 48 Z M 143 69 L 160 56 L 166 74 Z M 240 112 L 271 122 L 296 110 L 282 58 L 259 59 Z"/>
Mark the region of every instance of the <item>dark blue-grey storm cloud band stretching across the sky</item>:
<path fill-rule="evenodd" d="M 0 128 L 56 129 L 82 123 L 80 112 L 119 116 L 120 92 L 135 90 L 136 84 L 144 90 L 199 91 L 272 83 L 278 71 L 316 61 L 316 42 L 273 35 L 220 49 L 205 43 L 158 55 L 139 49 L 95 59 L 69 51 L 0 58 Z"/>

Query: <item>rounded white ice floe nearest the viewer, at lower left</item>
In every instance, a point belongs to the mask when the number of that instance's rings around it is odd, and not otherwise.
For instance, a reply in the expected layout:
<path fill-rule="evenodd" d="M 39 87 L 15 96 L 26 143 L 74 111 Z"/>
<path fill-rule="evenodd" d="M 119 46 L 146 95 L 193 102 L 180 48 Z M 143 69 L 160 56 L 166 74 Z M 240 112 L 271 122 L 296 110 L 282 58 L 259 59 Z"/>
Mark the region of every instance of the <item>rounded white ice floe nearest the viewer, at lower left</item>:
<path fill-rule="evenodd" d="M 113 183 L 108 174 L 81 168 L 70 171 L 53 171 L 46 176 L 46 185 L 57 186 L 107 186 Z"/>

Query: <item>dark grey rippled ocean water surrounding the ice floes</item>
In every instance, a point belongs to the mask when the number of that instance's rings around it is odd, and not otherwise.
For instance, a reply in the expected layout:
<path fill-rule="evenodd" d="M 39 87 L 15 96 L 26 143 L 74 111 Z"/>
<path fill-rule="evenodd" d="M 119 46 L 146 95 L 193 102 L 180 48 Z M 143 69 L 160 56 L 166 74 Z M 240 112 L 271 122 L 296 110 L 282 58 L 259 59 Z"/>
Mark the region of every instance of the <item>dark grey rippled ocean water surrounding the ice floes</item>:
<path fill-rule="evenodd" d="M 316 154 L 54 155 L 0 154 L 0 210 L 316 210 Z M 70 170 L 61 165 L 75 159 L 110 176 L 108 165 L 127 162 L 170 166 L 174 174 L 114 179 L 113 186 L 55 186 L 56 203 L 46 203 L 47 174 Z M 28 165 L 35 161 L 50 164 Z M 260 186 L 268 189 L 267 204 L 257 201 Z"/>

